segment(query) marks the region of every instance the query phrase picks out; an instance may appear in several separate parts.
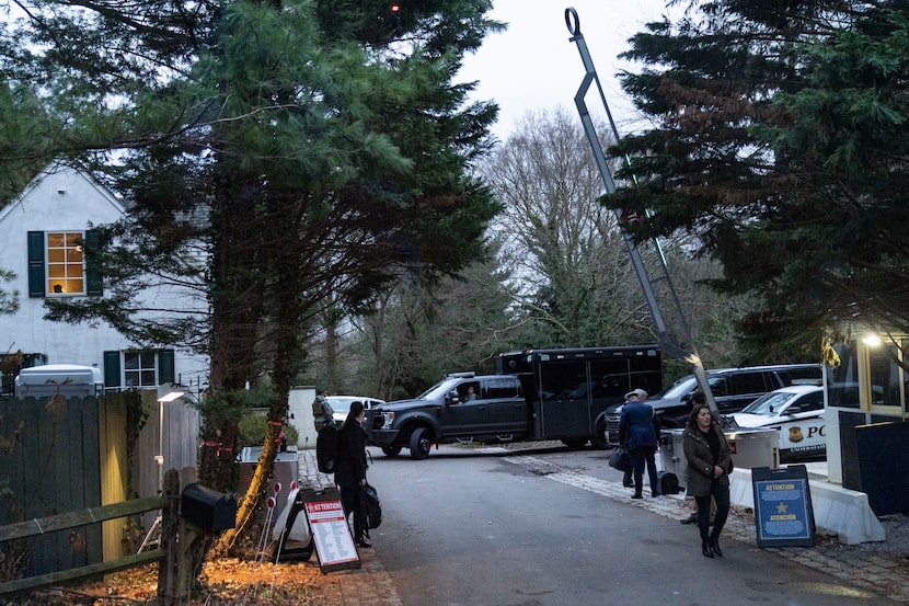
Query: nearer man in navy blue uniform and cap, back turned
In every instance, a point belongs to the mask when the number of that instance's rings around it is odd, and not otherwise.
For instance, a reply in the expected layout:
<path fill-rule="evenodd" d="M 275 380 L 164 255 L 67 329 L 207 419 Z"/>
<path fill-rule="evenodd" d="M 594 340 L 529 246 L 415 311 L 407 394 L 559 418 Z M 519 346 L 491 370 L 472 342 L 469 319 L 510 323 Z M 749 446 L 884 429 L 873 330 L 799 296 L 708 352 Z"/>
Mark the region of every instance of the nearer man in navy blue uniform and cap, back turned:
<path fill-rule="evenodd" d="M 651 478 L 651 494 L 659 496 L 654 456 L 659 444 L 659 418 L 653 407 L 640 401 L 636 392 L 629 392 L 625 400 L 628 403 L 622 407 L 622 415 L 619 420 L 619 444 L 629 451 L 631 459 L 634 476 L 632 499 L 643 499 L 645 464 Z"/>

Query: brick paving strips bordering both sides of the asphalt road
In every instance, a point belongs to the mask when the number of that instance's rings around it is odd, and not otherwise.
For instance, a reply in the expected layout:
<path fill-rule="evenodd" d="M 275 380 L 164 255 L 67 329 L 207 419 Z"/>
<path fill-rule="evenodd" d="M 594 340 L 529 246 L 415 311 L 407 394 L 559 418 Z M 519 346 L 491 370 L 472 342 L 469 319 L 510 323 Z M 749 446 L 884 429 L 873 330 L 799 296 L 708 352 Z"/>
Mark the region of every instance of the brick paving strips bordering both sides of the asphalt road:
<path fill-rule="evenodd" d="M 504 448 L 485 448 L 488 453 L 507 453 Z M 303 485 L 327 487 L 331 478 L 314 470 L 314 461 L 308 461 L 308 451 L 300 459 L 300 481 Z M 532 455 L 504 457 L 505 461 L 533 470 L 540 477 L 548 478 L 580 490 L 586 490 L 621 501 L 634 507 L 645 508 L 656 515 L 680 519 L 690 510 L 681 495 L 667 495 L 659 499 L 629 499 L 629 491 L 621 482 L 601 480 L 565 470 L 545 459 Z M 744 512 L 733 512 L 723 530 L 724 538 L 736 540 L 757 548 L 753 517 Z M 816 545 L 815 547 L 768 547 L 763 549 L 807 568 L 831 574 L 859 588 L 884 595 L 894 602 L 909 604 L 909 563 L 893 554 L 875 553 L 843 548 L 838 544 Z M 400 606 L 402 604 L 391 576 L 375 551 L 360 550 L 363 568 L 333 572 L 340 584 L 343 606 Z"/>

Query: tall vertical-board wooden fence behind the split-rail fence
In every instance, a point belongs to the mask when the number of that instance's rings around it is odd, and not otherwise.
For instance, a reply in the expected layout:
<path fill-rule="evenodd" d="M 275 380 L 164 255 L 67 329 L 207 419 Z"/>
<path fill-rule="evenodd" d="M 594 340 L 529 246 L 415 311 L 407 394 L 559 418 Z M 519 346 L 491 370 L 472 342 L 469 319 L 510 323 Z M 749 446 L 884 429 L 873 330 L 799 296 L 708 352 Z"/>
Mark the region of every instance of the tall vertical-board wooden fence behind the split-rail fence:
<path fill-rule="evenodd" d="M 0 526 L 157 496 L 159 449 L 164 468 L 194 469 L 198 412 L 181 401 L 161 405 L 153 390 L 139 395 L 147 421 L 129 444 L 129 393 L 60 402 L 0 400 L 0 478 L 8 484 L 0 485 Z M 36 576 L 135 553 L 157 517 L 153 512 L 139 514 L 9 541 L 2 547 L 0 573 L 5 579 Z"/>

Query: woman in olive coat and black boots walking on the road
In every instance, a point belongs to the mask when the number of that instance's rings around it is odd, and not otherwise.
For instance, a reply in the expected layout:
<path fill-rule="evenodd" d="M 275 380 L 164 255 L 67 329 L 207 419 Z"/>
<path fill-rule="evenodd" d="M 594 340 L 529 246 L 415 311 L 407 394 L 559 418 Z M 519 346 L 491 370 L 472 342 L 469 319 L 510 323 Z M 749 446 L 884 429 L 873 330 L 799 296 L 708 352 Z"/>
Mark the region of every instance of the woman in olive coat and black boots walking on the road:
<path fill-rule="evenodd" d="M 688 494 L 698 503 L 701 552 L 706 558 L 723 556 L 720 533 L 729 515 L 729 444 L 707 404 L 694 404 L 682 435 L 688 459 Z M 710 501 L 716 502 L 713 531 L 710 531 Z"/>

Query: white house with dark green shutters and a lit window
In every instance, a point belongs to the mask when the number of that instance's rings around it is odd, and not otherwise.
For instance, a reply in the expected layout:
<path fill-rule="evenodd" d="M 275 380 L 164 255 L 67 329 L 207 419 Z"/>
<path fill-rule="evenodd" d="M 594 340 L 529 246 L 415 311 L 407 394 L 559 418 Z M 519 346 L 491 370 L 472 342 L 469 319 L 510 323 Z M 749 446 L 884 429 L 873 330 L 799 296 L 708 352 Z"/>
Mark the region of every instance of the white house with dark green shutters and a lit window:
<path fill-rule="evenodd" d="M 0 315 L 0 355 L 22 352 L 38 363 L 96 366 L 105 389 L 176 382 L 197 392 L 207 384 L 205 356 L 179 348 L 145 348 L 103 323 L 44 319 L 48 298 L 104 296 L 104 278 L 85 262 L 82 243 L 95 237 L 92 225 L 113 222 L 124 215 L 123 204 L 91 175 L 60 164 L 48 167 L 16 199 L 0 208 L 4 243 L 0 267 L 15 273 L 13 282 L 2 286 L 18 290 L 20 300 L 16 313 Z M 205 309 L 205 301 L 172 286 L 153 288 L 147 296 L 164 298 L 171 308 L 176 302 L 184 309 Z M 8 384 L 4 377 L 4 391 Z"/>

